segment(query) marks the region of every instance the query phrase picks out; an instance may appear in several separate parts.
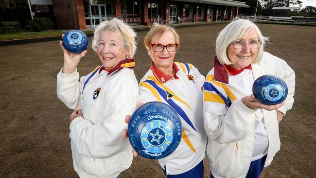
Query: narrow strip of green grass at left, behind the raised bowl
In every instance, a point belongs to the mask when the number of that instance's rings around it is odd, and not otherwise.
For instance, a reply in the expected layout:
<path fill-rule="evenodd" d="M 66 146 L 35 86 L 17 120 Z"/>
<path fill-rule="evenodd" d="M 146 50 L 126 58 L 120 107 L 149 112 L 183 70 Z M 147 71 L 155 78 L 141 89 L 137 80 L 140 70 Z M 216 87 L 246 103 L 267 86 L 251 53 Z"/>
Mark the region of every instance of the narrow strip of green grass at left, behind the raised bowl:
<path fill-rule="evenodd" d="M 85 32 L 91 33 L 90 31 Z M 9 33 L 0 34 L 0 41 L 10 40 L 10 39 L 24 39 L 24 38 L 35 38 L 35 37 L 45 37 L 45 36 L 61 36 L 65 34 L 62 31 L 44 31 L 44 32 L 20 32 L 20 33 Z"/>

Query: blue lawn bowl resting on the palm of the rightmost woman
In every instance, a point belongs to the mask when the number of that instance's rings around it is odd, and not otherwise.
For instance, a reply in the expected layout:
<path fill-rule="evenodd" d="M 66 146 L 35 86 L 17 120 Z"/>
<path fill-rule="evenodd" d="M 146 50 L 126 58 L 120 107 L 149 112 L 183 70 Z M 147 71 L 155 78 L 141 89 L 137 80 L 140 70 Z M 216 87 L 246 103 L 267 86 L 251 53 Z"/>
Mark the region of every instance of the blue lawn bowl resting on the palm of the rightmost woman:
<path fill-rule="evenodd" d="M 277 105 L 287 96 L 285 82 L 275 75 L 263 75 L 255 80 L 252 92 L 256 99 L 264 105 Z"/>

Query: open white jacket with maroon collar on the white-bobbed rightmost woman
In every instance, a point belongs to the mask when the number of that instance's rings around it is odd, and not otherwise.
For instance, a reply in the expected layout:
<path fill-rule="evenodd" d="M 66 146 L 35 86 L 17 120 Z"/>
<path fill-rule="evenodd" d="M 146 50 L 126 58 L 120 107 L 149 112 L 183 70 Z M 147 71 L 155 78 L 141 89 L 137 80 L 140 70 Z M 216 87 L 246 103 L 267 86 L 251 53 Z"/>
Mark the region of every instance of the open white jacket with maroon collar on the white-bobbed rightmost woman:
<path fill-rule="evenodd" d="M 251 64 L 251 68 L 254 79 L 264 74 L 273 74 L 285 81 L 288 95 L 285 104 L 278 110 L 285 114 L 291 109 L 294 103 L 295 74 L 286 62 L 263 52 L 260 63 Z M 203 94 L 204 128 L 209 137 L 206 154 L 215 178 L 245 178 L 248 172 L 254 149 L 256 110 L 243 104 L 241 99 L 245 96 L 215 58 Z M 280 138 L 276 110 L 263 109 L 263 117 L 269 142 L 264 164 L 266 167 L 280 150 Z"/>

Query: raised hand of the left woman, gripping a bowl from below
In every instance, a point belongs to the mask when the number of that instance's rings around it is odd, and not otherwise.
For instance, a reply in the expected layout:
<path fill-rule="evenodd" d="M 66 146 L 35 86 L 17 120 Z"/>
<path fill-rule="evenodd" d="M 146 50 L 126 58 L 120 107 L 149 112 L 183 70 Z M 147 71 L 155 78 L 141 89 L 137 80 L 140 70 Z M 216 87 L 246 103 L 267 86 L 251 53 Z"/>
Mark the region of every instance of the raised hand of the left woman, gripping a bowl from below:
<path fill-rule="evenodd" d="M 64 34 L 62 35 L 62 37 L 64 37 Z M 63 49 L 63 52 L 64 52 L 64 69 L 63 69 L 63 72 L 64 73 L 72 73 L 72 72 L 76 71 L 76 68 L 80 62 L 80 59 L 83 56 L 85 56 L 88 51 L 85 50 L 80 54 L 70 53 L 65 49 L 62 41 L 59 41 L 59 45 Z"/>

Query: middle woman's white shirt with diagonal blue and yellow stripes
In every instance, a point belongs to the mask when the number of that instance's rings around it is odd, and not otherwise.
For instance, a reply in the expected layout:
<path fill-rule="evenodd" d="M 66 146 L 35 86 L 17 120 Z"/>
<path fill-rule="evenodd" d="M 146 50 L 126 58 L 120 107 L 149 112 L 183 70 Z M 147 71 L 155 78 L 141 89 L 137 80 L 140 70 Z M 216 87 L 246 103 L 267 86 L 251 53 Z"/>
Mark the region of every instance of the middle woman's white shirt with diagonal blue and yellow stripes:
<path fill-rule="evenodd" d="M 163 102 L 174 107 L 181 118 L 180 144 L 171 155 L 159 159 L 167 175 L 178 175 L 193 169 L 204 159 L 207 142 L 201 91 L 204 76 L 192 64 L 176 62 L 173 67 L 176 71 L 174 78 L 152 64 L 151 70 L 140 80 L 140 102 Z"/>

